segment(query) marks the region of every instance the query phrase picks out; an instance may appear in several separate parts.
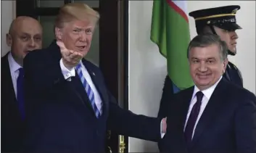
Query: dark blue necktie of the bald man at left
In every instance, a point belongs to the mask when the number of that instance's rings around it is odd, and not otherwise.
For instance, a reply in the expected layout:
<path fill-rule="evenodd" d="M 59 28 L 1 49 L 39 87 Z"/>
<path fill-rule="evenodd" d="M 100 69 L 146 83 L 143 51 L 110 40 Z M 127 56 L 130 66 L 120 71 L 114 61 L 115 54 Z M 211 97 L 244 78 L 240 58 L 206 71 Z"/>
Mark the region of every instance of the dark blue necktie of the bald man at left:
<path fill-rule="evenodd" d="M 17 102 L 20 110 L 22 120 L 25 119 L 25 108 L 24 108 L 24 70 L 19 69 L 19 76 L 17 78 Z"/>

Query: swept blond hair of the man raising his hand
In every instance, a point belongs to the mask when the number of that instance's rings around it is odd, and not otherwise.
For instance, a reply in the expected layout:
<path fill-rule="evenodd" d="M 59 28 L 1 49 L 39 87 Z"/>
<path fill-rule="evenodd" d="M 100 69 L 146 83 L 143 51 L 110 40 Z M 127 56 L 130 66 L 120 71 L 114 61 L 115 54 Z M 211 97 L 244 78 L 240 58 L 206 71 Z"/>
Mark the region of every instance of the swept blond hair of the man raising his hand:
<path fill-rule="evenodd" d="M 89 20 L 96 24 L 99 21 L 99 13 L 84 3 L 65 4 L 59 9 L 54 27 L 63 28 L 64 23 L 73 20 Z"/>

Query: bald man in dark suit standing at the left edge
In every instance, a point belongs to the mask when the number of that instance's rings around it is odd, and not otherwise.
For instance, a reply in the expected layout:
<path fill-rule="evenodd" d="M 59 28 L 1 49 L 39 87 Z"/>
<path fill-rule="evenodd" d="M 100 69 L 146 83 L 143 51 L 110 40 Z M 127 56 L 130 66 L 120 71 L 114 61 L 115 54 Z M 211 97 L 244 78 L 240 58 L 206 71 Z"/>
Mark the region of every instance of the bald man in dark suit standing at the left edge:
<path fill-rule="evenodd" d="M 28 51 L 41 49 L 42 28 L 31 17 L 17 17 L 7 33 L 11 47 L 1 57 L 1 152 L 17 152 L 22 144 L 24 107 L 22 65 Z"/>

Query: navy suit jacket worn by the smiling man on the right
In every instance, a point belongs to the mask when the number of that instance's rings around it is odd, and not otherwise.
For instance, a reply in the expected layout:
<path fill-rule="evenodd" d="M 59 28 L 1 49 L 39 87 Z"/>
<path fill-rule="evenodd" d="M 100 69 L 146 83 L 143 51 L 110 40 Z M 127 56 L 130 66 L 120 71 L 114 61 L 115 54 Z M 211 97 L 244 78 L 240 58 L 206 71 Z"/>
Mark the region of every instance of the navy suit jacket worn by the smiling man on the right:
<path fill-rule="evenodd" d="M 255 153 L 256 97 L 244 88 L 220 80 L 205 107 L 191 144 L 183 128 L 194 87 L 173 96 L 168 107 L 168 129 L 162 152 L 170 153 Z"/>

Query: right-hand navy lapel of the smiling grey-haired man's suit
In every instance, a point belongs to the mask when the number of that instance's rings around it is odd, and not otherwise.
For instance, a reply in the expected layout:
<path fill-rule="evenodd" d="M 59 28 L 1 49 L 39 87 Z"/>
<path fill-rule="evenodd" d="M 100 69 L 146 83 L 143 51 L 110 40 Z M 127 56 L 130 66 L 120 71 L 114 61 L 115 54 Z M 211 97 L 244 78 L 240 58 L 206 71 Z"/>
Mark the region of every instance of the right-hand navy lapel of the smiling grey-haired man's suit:
<path fill-rule="evenodd" d="M 205 107 L 205 110 L 202 113 L 199 122 L 197 123 L 197 127 L 194 131 L 194 137 L 191 142 L 191 147 L 193 147 L 197 143 L 205 129 L 207 129 L 207 127 L 210 125 L 210 123 L 212 123 L 214 118 L 218 116 L 219 107 L 222 107 L 222 104 L 225 101 L 225 95 L 223 95 L 223 93 L 225 92 L 225 87 L 225 81 L 222 78 L 220 80 L 220 83 L 218 83 L 218 86 L 216 86 L 215 90 L 213 91 L 212 96 L 210 97 L 210 100 Z"/>

